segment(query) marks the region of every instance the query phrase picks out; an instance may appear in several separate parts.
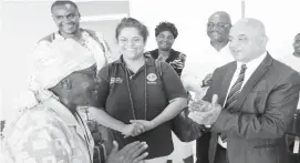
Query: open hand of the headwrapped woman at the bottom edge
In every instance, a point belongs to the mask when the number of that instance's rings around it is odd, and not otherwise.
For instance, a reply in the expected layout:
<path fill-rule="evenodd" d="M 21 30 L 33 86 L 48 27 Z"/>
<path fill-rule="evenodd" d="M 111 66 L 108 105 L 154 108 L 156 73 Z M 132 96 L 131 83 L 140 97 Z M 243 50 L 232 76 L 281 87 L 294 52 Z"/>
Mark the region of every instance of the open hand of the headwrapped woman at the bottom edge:
<path fill-rule="evenodd" d="M 141 163 L 148 155 L 147 152 L 143 153 L 148 147 L 145 142 L 133 142 L 120 151 L 117 142 L 114 141 L 113 144 L 113 150 L 105 163 Z"/>

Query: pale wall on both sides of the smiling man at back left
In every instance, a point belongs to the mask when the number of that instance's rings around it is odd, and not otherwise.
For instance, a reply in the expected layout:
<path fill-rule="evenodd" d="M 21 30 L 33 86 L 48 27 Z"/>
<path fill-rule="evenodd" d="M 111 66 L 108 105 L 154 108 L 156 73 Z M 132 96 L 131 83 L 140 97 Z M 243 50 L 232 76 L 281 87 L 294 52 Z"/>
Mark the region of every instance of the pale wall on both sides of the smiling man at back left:
<path fill-rule="evenodd" d="M 0 74 L 1 94 L 0 120 L 14 116 L 13 99 L 25 86 L 29 74 L 31 52 L 35 43 L 43 37 L 56 31 L 52 21 L 50 7 L 54 0 L 14 0 L 1 1 L 1 45 Z M 83 1 L 75 0 L 82 17 L 103 14 L 128 14 L 128 1 Z M 118 21 L 105 20 L 82 22 L 83 28 L 103 32 L 114 47 L 114 29 Z M 4 112 L 3 112 L 4 110 Z M 2 115 L 4 114 L 4 115 Z"/>

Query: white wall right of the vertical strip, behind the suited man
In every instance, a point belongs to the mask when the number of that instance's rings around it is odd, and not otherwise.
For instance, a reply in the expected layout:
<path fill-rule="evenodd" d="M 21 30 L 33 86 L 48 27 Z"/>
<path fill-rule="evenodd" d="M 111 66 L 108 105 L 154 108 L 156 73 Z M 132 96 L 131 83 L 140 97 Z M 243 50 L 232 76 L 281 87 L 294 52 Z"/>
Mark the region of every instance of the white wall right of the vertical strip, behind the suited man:
<path fill-rule="evenodd" d="M 277 59 L 293 52 L 293 38 L 300 32 L 299 7 L 299 0 L 246 1 L 246 17 L 265 23 L 269 37 L 268 51 Z"/>

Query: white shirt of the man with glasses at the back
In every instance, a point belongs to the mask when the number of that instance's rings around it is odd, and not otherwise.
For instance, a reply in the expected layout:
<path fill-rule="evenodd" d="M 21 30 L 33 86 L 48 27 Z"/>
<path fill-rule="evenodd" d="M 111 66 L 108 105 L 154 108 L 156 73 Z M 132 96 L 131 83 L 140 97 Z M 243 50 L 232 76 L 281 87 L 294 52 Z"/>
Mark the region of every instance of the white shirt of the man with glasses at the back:
<path fill-rule="evenodd" d="M 182 73 L 182 81 L 187 91 L 197 94 L 197 99 L 201 99 L 208 88 L 201 88 L 203 80 L 209 73 L 213 74 L 215 69 L 234 61 L 229 51 L 228 44 L 220 51 L 217 51 L 209 42 L 201 44 L 200 50 L 197 52 L 199 55 L 188 55 L 185 68 Z M 201 47 L 204 47 L 201 49 Z"/>

